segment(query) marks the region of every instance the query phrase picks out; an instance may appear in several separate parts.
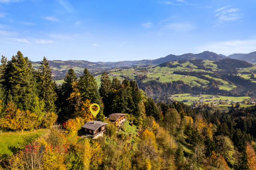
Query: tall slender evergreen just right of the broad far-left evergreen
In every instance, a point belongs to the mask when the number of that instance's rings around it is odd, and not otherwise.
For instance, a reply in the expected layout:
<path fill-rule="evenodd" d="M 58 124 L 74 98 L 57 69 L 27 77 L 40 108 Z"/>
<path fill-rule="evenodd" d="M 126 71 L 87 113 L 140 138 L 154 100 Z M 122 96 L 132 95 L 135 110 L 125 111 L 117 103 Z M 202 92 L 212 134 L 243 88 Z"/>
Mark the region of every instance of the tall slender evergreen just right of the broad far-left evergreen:
<path fill-rule="evenodd" d="M 39 97 L 45 103 L 46 112 L 56 110 L 54 102 L 57 99 L 55 84 L 52 81 L 52 69 L 49 67 L 49 61 L 44 57 L 38 71 L 38 89 Z"/>

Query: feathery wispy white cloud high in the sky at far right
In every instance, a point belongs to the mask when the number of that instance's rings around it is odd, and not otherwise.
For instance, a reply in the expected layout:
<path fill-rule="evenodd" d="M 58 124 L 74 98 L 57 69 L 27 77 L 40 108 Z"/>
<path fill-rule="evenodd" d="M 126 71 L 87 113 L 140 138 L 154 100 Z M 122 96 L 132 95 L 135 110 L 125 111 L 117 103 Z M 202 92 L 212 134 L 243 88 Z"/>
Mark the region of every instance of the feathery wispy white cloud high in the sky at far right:
<path fill-rule="evenodd" d="M 229 8 L 229 6 L 224 6 L 215 10 L 215 12 L 217 12 L 215 15 L 217 22 L 222 23 L 239 20 L 243 16 L 243 14 L 239 13 L 239 10 L 239 8 Z"/>

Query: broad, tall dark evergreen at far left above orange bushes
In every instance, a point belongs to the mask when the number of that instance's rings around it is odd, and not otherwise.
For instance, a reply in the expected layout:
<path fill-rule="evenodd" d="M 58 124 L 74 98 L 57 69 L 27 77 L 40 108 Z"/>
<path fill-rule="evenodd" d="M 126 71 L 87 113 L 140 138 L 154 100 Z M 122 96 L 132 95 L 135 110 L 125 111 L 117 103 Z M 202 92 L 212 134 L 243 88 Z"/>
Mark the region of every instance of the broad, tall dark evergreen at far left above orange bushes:
<path fill-rule="evenodd" d="M 23 57 L 23 54 L 18 51 L 17 55 L 12 56 L 12 59 L 7 62 L 2 77 L 7 100 L 13 101 L 22 110 L 30 110 L 37 90 L 35 70 L 28 57 Z"/>

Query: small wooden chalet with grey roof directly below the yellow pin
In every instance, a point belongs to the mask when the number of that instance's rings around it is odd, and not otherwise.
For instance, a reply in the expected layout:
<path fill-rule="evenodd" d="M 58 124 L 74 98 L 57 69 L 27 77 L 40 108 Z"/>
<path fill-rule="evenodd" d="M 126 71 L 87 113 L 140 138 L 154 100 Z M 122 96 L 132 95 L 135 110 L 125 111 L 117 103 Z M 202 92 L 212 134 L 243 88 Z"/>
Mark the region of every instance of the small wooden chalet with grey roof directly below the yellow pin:
<path fill-rule="evenodd" d="M 86 136 L 97 138 L 102 136 L 103 132 L 106 131 L 106 125 L 108 125 L 108 123 L 103 123 L 101 121 L 88 121 L 82 126 L 82 130 L 86 133 Z"/>

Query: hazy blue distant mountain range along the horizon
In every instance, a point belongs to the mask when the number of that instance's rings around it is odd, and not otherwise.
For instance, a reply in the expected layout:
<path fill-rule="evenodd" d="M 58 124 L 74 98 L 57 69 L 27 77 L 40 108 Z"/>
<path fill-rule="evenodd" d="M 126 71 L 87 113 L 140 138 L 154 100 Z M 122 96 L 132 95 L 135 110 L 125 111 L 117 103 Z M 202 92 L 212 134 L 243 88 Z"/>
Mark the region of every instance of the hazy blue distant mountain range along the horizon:
<path fill-rule="evenodd" d="M 217 54 L 210 51 L 204 51 L 202 53 L 193 54 L 186 53 L 182 55 L 167 55 L 166 57 L 161 57 L 158 59 L 144 59 L 138 61 L 118 61 L 118 62 L 90 62 L 85 60 L 52 60 L 49 65 L 52 67 L 53 77 L 64 77 L 68 69 L 73 68 L 74 71 L 79 75 L 84 71 L 84 68 L 87 67 L 90 70 L 90 73 L 97 73 L 104 71 L 106 69 L 111 69 L 114 67 L 133 67 L 133 66 L 143 66 L 143 65 L 159 65 L 168 61 L 176 60 L 194 60 L 194 59 L 208 59 L 211 61 L 220 61 L 222 59 L 232 58 L 244 60 L 249 63 L 256 63 L 256 51 L 248 54 L 235 53 L 229 56 L 222 54 Z M 35 68 L 40 66 L 41 61 L 32 62 Z"/>

